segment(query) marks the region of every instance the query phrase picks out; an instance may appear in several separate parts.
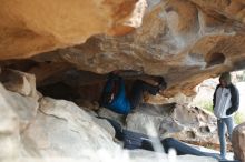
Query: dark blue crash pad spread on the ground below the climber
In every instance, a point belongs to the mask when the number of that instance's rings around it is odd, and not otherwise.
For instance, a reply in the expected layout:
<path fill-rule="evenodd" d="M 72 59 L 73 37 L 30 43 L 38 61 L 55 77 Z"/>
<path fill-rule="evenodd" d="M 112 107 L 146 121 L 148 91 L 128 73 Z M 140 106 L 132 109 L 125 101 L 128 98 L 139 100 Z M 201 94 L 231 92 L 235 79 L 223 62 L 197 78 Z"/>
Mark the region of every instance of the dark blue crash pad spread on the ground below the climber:
<path fill-rule="evenodd" d="M 143 133 L 125 130 L 117 121 L 114 121 L 111 119 L 102 118 L 102 117 L 98 117 L 98 118 L 106 119 L 112 125 L 116 132 L 115 138 L 124 142 L 125 149 L 129 149 L 129 150 L 144 149 L 144 150 L 154 151 L 153 148 L 154 142 L 151 142 L 153 138 Z M 218 153 L 200 151 L 198 149 L 195 149 L 194 146 L 190 146 L 173 138 L 160 139 L 160 143 L 165 150 L 165 153 L 168 153 L 169 149 L 175 149 L 177 155 L 192 154 L 197 156 L 212 156 L 217 160 L 220 159 Z"/>

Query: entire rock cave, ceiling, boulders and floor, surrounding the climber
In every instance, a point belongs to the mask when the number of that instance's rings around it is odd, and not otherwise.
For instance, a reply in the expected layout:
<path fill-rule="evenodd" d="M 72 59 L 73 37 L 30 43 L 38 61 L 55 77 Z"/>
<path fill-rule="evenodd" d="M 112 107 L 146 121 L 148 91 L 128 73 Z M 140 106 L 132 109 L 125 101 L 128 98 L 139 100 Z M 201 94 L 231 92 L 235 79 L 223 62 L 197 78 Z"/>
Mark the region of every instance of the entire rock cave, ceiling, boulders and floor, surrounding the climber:
<path fill-rule="evenodd" d="M 138 133 L 149 134 L 149 124 L 159 136 L 219 146 L 214 115 L 186 103 L 204 80 L 245 69 L 244 0 L 3 0 L 0 8 L 1 161 L 171 161 L 122 150 L 98 115 Z M 117 114 L 98 104 L 115 70 L 125 73 L 126 91 L 149 75 L 164 77 L 167 89 Z M 235 143 L 245 142 L 244 128 Z M 245 161 L 244 146 L 233 148 Z"/>

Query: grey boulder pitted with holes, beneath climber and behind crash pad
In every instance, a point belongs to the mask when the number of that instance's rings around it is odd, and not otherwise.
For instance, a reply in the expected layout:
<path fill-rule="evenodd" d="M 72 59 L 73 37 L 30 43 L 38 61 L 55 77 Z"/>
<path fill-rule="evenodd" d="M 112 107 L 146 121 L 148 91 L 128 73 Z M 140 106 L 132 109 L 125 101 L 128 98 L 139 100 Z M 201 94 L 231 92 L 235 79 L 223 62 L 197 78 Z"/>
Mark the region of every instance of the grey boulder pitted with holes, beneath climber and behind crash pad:
<path fill-rule="evenodd" d="M 210 113 L 183 104 L 140 104 L 127 119 L 127 129 L 161 138 L 218 143 L 216 119 Z"/>

